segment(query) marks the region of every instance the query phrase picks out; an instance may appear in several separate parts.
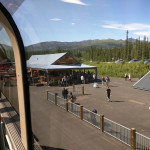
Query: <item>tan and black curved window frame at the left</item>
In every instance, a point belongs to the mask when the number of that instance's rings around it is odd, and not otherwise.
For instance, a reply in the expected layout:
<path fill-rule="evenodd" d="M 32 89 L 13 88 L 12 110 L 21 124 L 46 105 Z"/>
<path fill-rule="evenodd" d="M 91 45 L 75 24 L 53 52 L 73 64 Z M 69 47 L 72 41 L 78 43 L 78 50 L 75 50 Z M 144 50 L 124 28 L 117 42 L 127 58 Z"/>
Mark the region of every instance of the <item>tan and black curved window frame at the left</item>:
<path fill-rule="evenodd" d="M 5 28 L 14 51 L 18 90 L 18 103 L 21 126 L 21 139 L 26 150 L 33 149 L 31 128 L 31 113 L 29 99 L 29 85 L 26 72 L 25 49 L 21 34 L 10 13 L 0 2 L 0 22 Z"/>

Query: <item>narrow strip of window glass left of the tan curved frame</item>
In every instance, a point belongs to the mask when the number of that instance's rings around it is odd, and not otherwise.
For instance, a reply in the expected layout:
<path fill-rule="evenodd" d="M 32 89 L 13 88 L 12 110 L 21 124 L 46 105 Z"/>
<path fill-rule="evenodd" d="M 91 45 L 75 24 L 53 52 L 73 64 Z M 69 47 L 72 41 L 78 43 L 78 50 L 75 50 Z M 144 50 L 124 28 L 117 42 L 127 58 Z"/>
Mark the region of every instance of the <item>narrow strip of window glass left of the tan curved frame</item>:
<path fill-rule="evenodd" d="M 19 113 L 14 53 L 4 28 L 0 31 L 0 89 Z"/>

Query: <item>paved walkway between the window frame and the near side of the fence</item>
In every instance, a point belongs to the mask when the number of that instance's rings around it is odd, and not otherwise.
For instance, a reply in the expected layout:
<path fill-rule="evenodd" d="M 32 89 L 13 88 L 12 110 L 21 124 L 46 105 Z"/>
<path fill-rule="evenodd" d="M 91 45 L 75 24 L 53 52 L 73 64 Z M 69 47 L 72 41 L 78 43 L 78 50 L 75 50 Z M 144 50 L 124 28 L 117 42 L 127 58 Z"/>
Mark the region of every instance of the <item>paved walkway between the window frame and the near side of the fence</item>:
<path fill-rule="evenodd" d="M 88 85 L 90 86 L 90 85 Z M 46 100 L 46 90 L 56 87 L 31 87 L 31 114 L 33 131 L 45 149 L 60 150 L 129 150 L 130 147 L 101 133 Z M 96 89 L 97 90 L 97 89 Z M 88 91 L 87 91 L 88 92 Z M 87 95 L 84 96 L 86 99 Z M 86 100 L 82 100 L 86 101 Z M 92 101 L 92 99 L 91 99 Z"/>

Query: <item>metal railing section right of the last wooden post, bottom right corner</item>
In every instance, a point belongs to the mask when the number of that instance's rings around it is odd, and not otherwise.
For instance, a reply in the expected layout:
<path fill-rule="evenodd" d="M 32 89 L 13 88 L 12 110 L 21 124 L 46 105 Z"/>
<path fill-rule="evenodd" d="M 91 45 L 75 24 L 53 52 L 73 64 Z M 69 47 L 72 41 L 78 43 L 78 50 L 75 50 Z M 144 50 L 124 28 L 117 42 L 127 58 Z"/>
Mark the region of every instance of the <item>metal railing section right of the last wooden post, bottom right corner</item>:
<path fill-rule="evenodd" d="M 150 150 L 150 138 L 136 132 L 136 149 Z"/>

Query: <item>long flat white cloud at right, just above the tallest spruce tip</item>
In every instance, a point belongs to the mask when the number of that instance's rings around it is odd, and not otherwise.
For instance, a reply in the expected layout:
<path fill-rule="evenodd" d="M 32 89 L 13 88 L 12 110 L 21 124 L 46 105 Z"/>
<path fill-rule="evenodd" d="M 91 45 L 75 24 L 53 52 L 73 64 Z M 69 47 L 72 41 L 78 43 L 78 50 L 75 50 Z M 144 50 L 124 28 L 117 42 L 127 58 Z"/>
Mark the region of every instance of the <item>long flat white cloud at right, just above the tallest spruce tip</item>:
<path fill-rule="evenodd" d="M 117 29 L 117 30 L 150 30 L 150 25 L 131 23 L 131 24 L 106 24 L 102 28 Z"/>

